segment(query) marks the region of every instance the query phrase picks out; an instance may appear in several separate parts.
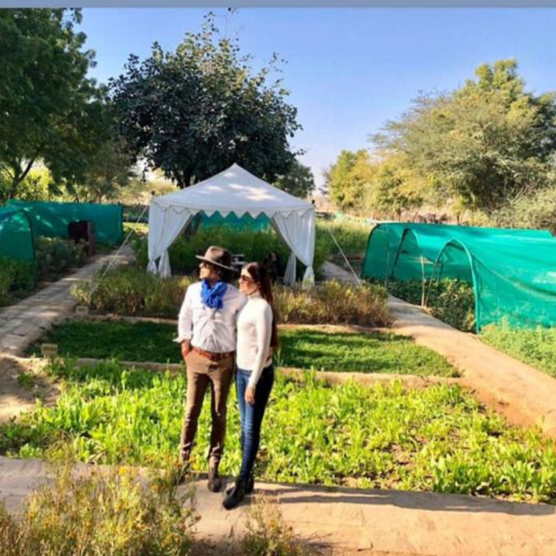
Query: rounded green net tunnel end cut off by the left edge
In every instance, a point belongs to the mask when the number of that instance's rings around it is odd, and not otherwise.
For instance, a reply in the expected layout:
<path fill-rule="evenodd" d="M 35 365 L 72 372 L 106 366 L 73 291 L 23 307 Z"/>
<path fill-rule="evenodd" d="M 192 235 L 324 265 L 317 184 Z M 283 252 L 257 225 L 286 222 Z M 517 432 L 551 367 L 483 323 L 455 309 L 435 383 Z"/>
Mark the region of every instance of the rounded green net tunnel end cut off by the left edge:
<path fill-rule="evenodd" d="M 17 208 L 0 207 L 0 259 L 35 261 L 31 222 Z"/>

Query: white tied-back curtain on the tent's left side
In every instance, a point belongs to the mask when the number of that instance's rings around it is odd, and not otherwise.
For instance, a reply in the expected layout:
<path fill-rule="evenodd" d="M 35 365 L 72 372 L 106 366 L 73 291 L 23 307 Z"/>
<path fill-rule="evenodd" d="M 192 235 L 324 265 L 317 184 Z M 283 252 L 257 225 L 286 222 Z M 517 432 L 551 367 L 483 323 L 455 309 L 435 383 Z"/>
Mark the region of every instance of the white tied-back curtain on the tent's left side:
<path fill-rule="evenodd" d="M 149 208 L 149 265 L 147 270 L 162 277 L 172 274 L 168 247 L 174 243 L 193 214 L 187 209 L 161 207 L 152 203 Z M 156 260 L 158 267 L 156 266 Z"/>

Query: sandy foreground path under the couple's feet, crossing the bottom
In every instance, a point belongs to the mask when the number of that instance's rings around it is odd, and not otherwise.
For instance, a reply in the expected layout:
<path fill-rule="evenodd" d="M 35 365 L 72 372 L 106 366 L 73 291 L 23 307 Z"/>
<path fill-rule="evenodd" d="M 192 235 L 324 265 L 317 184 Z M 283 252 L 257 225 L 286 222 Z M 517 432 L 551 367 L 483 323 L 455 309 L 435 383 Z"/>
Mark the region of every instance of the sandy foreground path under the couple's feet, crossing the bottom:
<path fill-rule="evenodd" d="M 44 482 L 38 460 L 0 457 L 0 496 L 12 512 Z M 245 530 L 248 505 L 227 512 L 224 493 L 197 480 L 197 537 L 203 556 Z M 297 534 L 335 554 L 398 556 L 553 556 L 556 508 L 488 498 L 257 483 L 256 493 L 277 499 Z M 211 550 L 212 548 L 212 550 Z"/>

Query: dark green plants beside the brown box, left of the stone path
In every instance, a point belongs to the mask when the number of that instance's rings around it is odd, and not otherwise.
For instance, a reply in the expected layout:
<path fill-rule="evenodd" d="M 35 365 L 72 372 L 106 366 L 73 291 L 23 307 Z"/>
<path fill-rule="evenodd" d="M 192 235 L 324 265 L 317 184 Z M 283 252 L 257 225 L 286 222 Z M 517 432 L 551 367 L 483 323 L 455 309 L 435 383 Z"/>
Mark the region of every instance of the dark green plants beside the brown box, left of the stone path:
<path fill-rule="evenodd" d="M 35 238 L 37 272 L 40 280 L 54 280 L 70 268 L 85 263 L 85 243 L 60 238 Z"/>

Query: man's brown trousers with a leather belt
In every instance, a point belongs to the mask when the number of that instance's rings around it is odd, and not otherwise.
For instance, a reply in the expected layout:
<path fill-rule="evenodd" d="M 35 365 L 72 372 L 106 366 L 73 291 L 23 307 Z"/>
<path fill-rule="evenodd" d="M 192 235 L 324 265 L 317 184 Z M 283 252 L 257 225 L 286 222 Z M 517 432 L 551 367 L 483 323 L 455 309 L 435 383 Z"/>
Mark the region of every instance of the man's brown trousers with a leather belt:
<path fill-rule="evenodd" d="M 211 448 L 208 452 L 210 466 L 217 466 L 224 452 L 226 434 L 226 402 L 234 378 L 234 357 L 221 361 L 211 361 L 196 352 L 189 352 L 186 357 L 187 394 L 185 415 L 181 428 L 180 457 L 187 464 L 193 449 L 197 422 L 203 407 L 204 395 L 211 386 Z"/>

